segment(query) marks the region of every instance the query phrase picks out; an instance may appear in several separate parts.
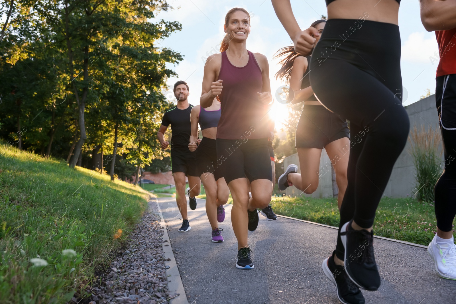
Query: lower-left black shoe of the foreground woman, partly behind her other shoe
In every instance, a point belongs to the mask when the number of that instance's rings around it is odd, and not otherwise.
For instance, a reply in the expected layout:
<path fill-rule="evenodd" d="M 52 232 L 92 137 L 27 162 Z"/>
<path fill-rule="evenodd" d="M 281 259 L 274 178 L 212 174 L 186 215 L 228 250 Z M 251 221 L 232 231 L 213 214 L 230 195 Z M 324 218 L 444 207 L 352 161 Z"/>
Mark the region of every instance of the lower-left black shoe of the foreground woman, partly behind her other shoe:
<path fill-rule="evenodd" d="M 364 304 L 364 297 L 342 266 L 334 263 L 333 257 L 326 258 L 323 261 L 323 272 L 326 274 L 337 289 L 337 298 L 344 304 Z"/>

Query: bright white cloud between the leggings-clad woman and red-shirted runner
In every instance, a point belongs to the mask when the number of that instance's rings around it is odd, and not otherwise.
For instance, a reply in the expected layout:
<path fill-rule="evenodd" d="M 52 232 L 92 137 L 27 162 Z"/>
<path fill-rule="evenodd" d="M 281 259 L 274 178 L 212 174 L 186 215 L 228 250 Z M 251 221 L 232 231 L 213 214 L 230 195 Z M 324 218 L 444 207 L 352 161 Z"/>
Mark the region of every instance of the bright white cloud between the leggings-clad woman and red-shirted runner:
<path fill-rule="evenodd" d="M 402 60 L 411 62 L 430 62 L 429 57 L 435 57 L 439 48 L 435 38 L 425 39 L 425 32 L 414 32 L 409 35 L 402 46 Z M 438 58 L 438 55 L 437 55 Z"/>

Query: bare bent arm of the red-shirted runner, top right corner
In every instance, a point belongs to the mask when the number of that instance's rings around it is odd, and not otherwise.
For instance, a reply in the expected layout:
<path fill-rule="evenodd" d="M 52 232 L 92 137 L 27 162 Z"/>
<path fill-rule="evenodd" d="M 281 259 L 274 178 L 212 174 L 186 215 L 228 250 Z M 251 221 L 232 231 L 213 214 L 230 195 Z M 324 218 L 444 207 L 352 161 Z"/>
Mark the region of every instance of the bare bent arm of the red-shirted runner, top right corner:
<path fill-rule="evenodd" d="M 426 31 L 456 27 L 456 0 L 420 0 L 421 22 Z"/>

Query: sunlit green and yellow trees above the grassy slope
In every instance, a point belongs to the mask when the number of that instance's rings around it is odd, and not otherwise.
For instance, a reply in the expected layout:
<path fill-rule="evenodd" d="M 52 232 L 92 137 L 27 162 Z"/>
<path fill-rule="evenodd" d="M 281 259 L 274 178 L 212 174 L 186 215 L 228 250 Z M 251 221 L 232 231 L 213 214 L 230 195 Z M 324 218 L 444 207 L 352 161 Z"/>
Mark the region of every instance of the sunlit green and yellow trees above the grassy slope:
<path fill-rule="evenodd" d="M 175 75 L 166 63 L 182 60 L 157 46 L 181 30 L 156 18 L 166 0 L 0 3 L 1 138 L 112 177 L 166 156 L 161 92 Z"/>

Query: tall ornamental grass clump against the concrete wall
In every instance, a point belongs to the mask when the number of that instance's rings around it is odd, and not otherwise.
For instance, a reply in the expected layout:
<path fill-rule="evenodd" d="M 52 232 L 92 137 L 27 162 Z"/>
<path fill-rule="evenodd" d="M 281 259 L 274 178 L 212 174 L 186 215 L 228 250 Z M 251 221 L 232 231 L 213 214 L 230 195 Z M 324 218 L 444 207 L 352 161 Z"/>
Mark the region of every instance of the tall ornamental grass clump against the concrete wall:
<path fill-rule="evenodd" d="M 434 201 L 434 186 L 442 171 L 440 168 L 442 151 L 440 147 L 440 134 L 434 129 L 425 130 L 422 126 L 418 131 L 416 126 L 409 136 L 412 145 L 410 154 L 413 157 L 416 175 L 416 199 L 418 201 Z M 440 150 L 440 151 L 439 151 Z"/>

